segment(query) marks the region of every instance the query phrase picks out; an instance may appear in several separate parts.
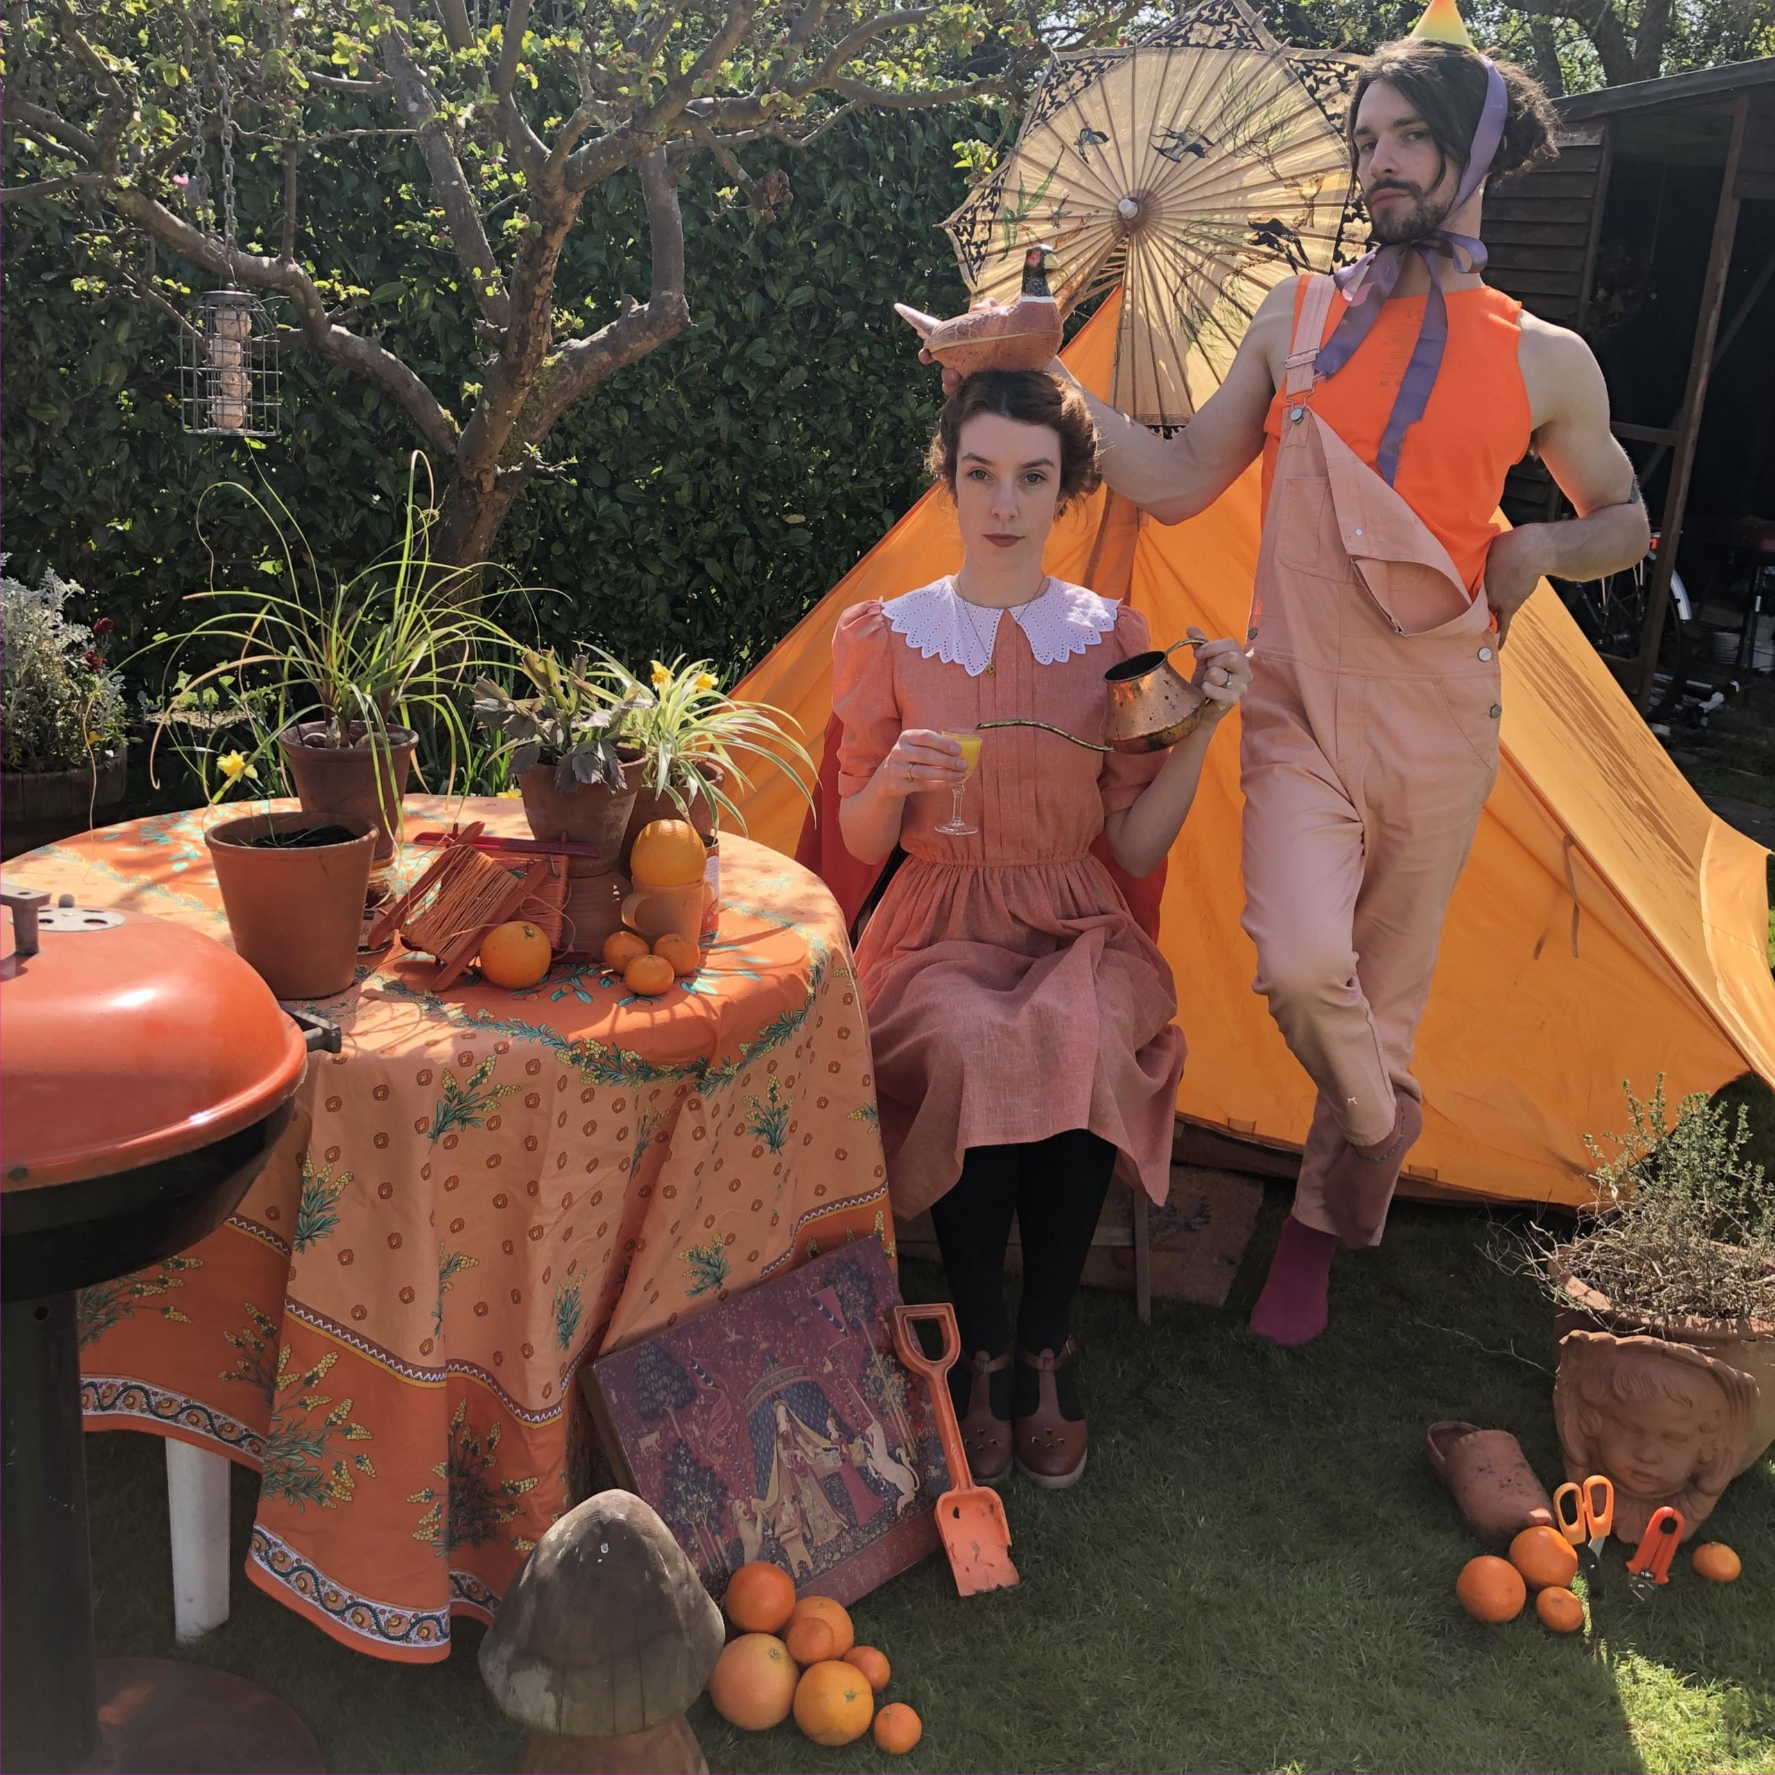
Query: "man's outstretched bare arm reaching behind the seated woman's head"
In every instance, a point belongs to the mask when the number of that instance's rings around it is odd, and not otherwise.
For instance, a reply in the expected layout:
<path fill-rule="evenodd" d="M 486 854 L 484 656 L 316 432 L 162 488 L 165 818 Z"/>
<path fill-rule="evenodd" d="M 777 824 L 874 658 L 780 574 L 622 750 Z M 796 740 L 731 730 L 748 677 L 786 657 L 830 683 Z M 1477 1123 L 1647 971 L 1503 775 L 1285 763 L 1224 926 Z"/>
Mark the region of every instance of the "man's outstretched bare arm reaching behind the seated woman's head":
<path fill-rule="evenodd" d="M 1102 438 L 1102 470 L 1111 490 L 1182 524 L 1205 511 L 1264 449 L 1264 415 L 1276 392 L 1274 366 L 1294 330 L 1294 280 L 1278 284 L 1251 318 L 1227 380 L 1175 437 L 1161 438 L 1085 392 Z M 1054 364 L 1056 375 L 1067 375 Z"/>

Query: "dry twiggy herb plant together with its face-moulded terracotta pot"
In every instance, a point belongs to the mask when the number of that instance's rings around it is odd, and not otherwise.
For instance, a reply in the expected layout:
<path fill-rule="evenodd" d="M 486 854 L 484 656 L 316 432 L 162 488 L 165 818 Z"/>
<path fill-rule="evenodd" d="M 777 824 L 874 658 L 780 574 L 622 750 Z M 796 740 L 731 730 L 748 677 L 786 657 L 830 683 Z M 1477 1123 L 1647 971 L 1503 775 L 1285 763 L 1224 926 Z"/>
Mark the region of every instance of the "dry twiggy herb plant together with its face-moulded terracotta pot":
<path fill-rule="evenodd" d="M 1775 1187 L 1750 1131 L 1706 1095 L 1672 1116 L 1628 1092 L 1631 1125 L 1596 1161 L 1596 1202 L 1535 1273 L 1560 1333 L 1553 1416 L 1566 1475 L 1615 1484 L 1615 1535 L 1660 1505 L 1690 1539 L 1775 1441 Z"/>

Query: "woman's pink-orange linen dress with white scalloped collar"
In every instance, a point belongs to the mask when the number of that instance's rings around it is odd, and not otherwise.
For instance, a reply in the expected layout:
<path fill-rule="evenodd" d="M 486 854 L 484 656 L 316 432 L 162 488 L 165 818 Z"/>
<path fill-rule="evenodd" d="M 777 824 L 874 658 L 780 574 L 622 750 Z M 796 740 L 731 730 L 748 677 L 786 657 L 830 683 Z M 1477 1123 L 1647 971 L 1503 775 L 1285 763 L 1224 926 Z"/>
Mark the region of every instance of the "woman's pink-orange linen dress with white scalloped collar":
<path fill-rule="evenodd" d="M 1095 740 L 1104 673 L 1148 646 L 1147 621 L 1051 579 L 1019 612 L 960 607 L 953 582 L 847 611 L 832 639 L 840 793 L 863 790 L 902 728 L 1035 717 Z M 992 643 L 994 671 L 978 641 Z M 905 802 L 907 861 L 857 946 L 895 1212 L 921 1212 L 969 1147 L 1086 1127 L 1163 1202 L 1184 1037 L 1172 969 L 1088 854 L 1163 753 L 1100 754 L 1033 728 L 983 735 L 962 816 L 950 790 Z"/>

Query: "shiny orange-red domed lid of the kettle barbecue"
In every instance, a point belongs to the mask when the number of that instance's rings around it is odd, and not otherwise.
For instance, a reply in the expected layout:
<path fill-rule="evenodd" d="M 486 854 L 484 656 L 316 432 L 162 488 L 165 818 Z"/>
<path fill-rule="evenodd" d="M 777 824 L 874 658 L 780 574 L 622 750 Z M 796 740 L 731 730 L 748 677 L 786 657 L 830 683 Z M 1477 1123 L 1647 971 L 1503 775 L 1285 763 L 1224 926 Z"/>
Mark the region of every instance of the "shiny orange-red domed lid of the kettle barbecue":
<path fill-rule="evenodd" d="M 176 1159 L 293 1095 L 304 1035 L 233 950 L 160 918 L 46 902 L 5 891 L 9 1191 Z"/>

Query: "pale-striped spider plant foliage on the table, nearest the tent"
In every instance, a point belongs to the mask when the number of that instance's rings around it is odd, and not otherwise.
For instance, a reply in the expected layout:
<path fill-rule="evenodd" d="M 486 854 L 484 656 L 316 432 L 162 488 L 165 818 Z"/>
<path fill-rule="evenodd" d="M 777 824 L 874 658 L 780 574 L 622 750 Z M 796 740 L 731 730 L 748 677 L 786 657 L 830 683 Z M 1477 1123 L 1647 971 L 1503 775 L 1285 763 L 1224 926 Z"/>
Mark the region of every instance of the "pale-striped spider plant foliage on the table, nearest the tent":
<path fill-rule="evenodd" d="M 653 660 L 648 687 L 609 655 L 602 662 L 634 703 L 623 738 L 643 754 L 641 792 L 623 834 L 625 870 L 635 838 L 653 820 L 689 820 L 710 848 L 724 822 L 744 832 L 746 818 L 733 793 L 751 788 L 747 763 L 781 770 L 813 806 L 808 788 L 813 760 L 790 731 L 793 721 L 767 703 L 735 701 L 708 660 L 680 657 L 669 666 Z M 797 765 L 806 765 L 806 779 Z"/>

